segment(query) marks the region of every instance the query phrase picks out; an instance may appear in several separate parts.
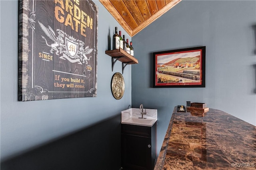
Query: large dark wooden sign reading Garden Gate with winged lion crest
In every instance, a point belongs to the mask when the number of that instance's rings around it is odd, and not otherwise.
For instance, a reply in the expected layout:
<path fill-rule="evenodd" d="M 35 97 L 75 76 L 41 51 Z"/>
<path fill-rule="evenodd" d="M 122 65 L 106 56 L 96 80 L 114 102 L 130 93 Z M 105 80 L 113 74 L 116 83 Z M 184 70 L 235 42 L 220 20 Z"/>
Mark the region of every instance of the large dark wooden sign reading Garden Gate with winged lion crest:
<path fill-rule="evenodd" d="M 19 1 L 18 100 L 96 97 L 98 7 Z"/>

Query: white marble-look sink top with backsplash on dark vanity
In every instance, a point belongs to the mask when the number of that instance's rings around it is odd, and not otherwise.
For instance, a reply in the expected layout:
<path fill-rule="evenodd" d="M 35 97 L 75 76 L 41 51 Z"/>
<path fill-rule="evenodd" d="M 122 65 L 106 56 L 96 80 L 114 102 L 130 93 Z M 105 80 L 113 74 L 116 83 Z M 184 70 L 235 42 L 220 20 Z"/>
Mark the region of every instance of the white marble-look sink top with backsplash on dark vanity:
<path fill-rule="evenodd" d="M 144 109 L 145 111 L 145 109 Z M 130 108 L 122 111 L 122 124 L 140 125 L 140 126 L 153 126 L 157 120 L 156 109 L 146 109 L 146 115 L 143 115 L 146 119 L 139 119 L 141 117 L 141 109 Z"/>

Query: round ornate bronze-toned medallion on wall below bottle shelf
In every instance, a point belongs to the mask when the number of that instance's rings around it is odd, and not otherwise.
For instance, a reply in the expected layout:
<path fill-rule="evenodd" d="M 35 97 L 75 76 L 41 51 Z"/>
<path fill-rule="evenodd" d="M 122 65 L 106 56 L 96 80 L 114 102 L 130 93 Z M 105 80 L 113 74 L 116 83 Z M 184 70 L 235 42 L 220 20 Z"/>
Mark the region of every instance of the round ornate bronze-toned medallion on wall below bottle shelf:
<path fill-rule="evenodd" d="M 124 77 L 120 72 L 116 72 L 112 77 L 111 91 L 117 100 L 124 96 Z"/>

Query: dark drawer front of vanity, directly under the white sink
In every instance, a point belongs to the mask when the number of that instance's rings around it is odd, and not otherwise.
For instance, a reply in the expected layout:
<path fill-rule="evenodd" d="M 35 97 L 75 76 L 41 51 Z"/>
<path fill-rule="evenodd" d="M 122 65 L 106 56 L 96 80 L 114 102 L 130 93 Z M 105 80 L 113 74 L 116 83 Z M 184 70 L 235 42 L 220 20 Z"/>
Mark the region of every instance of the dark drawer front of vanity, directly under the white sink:
<path fill-rule="evenodd" d="M 151 127 L 122 124 L 122 133 L 128 135 L 151 137 Z"/>

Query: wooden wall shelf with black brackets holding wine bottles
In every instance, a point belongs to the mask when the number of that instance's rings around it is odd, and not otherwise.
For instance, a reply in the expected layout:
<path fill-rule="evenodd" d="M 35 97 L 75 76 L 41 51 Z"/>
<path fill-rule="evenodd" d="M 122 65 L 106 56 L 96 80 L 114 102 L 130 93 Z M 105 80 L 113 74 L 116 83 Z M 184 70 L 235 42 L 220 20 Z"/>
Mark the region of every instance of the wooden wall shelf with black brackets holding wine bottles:
<path fill-rule="evenodd" d="M 116 61 L 118 60 L 122 62 L 122 73 L 124 73 L 124 68 L 126 67 L 127 64 L 138 64 L 138 60 L 135 57 L 128 54 L 126 51 L 124 51 L 121 48 L 105 51 L 105 54 L 112 57 L 112 71 Z"/>

